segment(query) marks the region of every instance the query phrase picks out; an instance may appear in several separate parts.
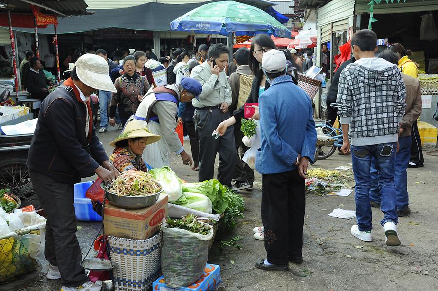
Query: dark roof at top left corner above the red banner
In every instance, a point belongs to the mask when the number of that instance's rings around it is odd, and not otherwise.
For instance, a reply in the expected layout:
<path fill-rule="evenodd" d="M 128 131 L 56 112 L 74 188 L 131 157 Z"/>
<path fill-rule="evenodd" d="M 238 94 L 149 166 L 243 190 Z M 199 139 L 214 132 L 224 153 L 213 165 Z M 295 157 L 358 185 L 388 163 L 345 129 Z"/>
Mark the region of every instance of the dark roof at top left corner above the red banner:
<path fill-rule="evenodd" d="M 42 4 L 49 8 L 55 9 L 66 15 L 86 14 L 87 3 L 84 0 L 31 0 L 32 2 Z M 2 3 L 12 5 L 14 13 L 32 13 L 30 4 L 20 0 L 1 0 Z M 4 10 L 0 10 L 3 12 Z M 53 14 L 52 11 L 41 8 L 42 13 Z"/>

